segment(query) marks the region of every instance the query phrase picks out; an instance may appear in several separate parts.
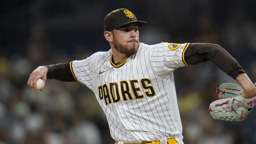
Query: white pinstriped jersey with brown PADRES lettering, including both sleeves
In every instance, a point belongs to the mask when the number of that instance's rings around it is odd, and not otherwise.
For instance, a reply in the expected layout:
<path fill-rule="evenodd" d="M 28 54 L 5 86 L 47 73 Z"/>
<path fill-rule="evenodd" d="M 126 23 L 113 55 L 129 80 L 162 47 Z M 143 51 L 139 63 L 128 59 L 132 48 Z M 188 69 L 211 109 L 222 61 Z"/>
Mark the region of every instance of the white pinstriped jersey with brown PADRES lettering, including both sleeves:
<path fill-rule="evenodd" d="M 175 137 L 183 144 L 173 71 L 183 67 L 189 43 L 140 43 L 136 54 L 115 65 L 112 50 L 70 63 L 77 81 L 88 86 L 106 114 L 118 143 L 150 142 Z M 105 61 L 105 59 L 108 59 Z M 102 74 L 89 73 L 96 70 Z"/>

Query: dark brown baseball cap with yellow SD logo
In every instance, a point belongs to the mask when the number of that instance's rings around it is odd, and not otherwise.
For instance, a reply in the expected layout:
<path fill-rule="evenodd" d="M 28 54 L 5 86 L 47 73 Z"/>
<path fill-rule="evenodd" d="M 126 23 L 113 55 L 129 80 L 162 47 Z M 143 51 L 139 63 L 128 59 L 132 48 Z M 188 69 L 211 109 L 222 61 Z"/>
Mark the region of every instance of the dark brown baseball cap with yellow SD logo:
<path fill-rule="evenodd" d="M 147 22 L 138 21 L 135 15 L 127 9 L 116 9 L 105 16 L 104 31 L 111 31 L 129 23 L 137 23 L 138 26 L 147 24 Z"/>

